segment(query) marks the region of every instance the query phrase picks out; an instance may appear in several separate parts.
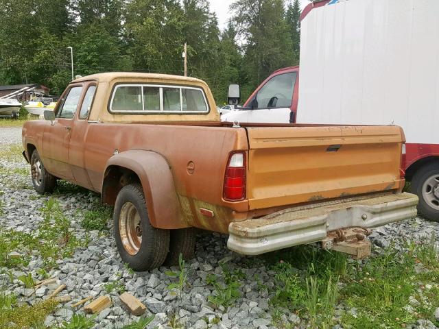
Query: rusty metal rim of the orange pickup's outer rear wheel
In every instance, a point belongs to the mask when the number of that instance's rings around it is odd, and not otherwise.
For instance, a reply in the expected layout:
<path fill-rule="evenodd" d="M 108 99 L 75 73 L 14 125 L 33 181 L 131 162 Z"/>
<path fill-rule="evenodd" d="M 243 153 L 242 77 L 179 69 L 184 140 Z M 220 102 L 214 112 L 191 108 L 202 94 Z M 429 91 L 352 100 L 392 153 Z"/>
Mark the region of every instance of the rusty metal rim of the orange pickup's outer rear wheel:
<path fill-rule="evenodd" d="M 131 202 L 123 204 L 119 216 L 119 235 L 123 248 L 134 256 L 142 244 L 142 226 L 137 208 Z"/>

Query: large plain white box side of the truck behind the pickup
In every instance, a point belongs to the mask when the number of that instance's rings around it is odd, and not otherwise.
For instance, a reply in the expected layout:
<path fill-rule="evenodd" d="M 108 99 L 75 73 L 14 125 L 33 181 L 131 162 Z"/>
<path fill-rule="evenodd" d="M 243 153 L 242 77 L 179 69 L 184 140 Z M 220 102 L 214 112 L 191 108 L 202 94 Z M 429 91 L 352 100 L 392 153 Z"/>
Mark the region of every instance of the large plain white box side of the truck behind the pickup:
<path fill-rule="evenodd" d="M 439 1 L 331 0 L 302 21 L 298 123 L 396 124 L 439 143 Z"/>

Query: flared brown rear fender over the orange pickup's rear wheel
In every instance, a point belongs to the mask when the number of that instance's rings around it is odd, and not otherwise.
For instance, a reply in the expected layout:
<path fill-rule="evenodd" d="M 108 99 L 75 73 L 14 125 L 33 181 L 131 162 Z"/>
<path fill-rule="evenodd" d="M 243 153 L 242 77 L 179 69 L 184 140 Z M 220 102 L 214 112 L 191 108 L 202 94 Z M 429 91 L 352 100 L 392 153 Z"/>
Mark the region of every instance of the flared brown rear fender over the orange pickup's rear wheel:
<path fill-rule="evenodd" d="M 102 182 L 102 202 L 114 205 L 123 186 L 139 182 L 154 228 L 187 228 L 174 185 L 174 176 L 164 156 L 154 151 L 130 150 L 112 156 Z"/>

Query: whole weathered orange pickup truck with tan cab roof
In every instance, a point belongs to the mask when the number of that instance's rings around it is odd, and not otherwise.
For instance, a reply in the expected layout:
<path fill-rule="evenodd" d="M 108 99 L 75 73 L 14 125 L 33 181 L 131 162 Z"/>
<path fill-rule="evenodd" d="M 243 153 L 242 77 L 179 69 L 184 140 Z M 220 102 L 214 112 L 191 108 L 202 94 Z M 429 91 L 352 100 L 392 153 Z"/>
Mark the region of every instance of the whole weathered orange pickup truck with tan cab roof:
<path fill-rule="evenodd" d="M 204 82 L 147 73 L 80 77 L 45 119 L 23 126 L 34 188 L 101 193 L 137 271 L 191 257 L 193 228 L 240 254 L 320 241 L 361 257 L 368 228 L 416 216 L 400 127 L 222 123 Z"/>

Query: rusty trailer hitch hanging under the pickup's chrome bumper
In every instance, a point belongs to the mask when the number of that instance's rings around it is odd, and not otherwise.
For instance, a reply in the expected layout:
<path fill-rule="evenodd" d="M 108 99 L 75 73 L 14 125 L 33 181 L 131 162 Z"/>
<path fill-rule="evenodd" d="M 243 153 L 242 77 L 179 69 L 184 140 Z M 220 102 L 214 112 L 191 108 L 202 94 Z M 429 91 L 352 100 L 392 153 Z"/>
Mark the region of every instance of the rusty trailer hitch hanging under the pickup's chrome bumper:
<path fill-rule="evenodd" d="M 353 258 L 363 259 L 370 256 L 371 244 L 367 228 L 341 228 L 328 232 L 322 241 L 322 248 L 350 254 Z"/>

